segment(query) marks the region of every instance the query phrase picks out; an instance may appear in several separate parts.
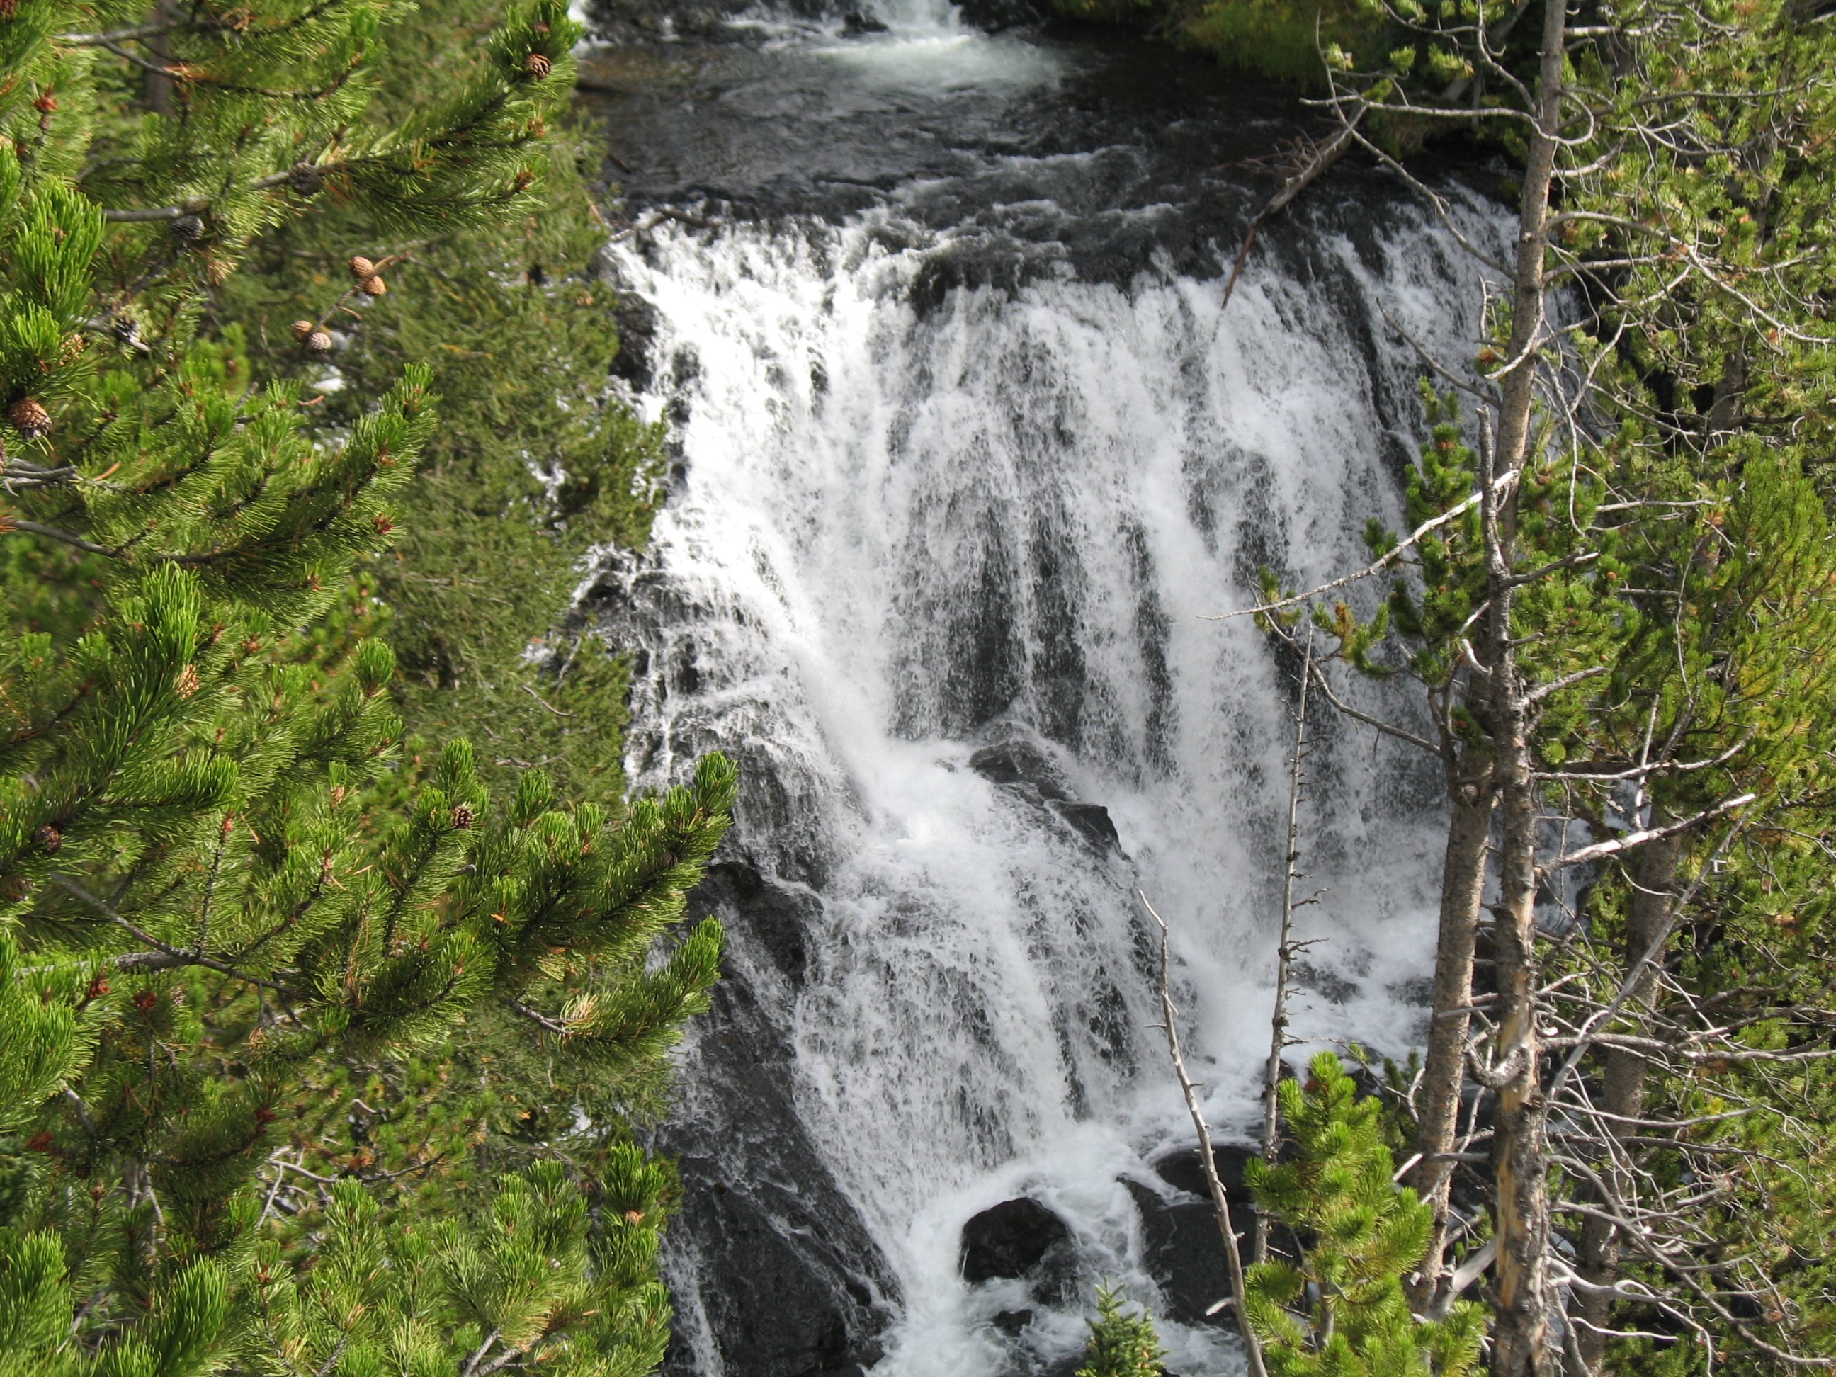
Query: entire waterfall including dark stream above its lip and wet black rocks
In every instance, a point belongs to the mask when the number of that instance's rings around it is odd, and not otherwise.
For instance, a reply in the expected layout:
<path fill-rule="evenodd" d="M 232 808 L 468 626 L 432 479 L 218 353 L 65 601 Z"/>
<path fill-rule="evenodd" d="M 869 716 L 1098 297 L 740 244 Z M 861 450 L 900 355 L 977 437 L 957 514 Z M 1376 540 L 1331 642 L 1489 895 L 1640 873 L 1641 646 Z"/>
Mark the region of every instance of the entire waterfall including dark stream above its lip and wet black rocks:
<path fill-rule="evenodd" d="M 657 1135 L 683 1170 L 668 1370 L 1069 1371 L 1107 1280 L 1170 1371 L 1234 1373 L 1140 896 L 1212 1122 L 1247 1140 L 1294 666 L 1210 617 L 1401 523 L 1410 338 L 1469 354 L 1480 281 L 1346 169 L 1221 312 L 1271 187 L 1245 162 L 1298 132 L 1291 94 L 1107 37 L 879 18 L 589 59 L 624 386 L 676 466 L 652 549 L 589 571 L 580 617 L 633 654 L 641 788 L 707 749 L 744 778 L 692 901 L 727 979 Z M 1293 1058 L 1403 1054 L 1438 778 L 1331 722 L 1309 777 Z"/>

